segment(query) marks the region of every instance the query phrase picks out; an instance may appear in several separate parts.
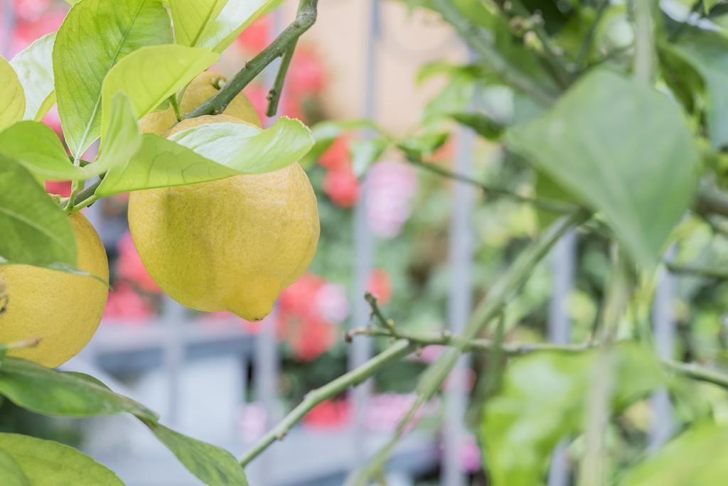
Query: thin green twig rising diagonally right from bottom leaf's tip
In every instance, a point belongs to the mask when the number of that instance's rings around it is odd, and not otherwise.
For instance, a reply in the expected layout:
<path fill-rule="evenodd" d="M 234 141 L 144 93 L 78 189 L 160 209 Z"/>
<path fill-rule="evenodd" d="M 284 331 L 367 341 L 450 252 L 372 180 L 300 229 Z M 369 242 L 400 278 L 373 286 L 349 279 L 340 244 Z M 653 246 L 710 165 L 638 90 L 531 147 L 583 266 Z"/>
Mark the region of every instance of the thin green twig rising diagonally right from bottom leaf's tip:
<path fill-rule="evenodd" d="M 290 429 L 296 425 L 298 421 L 304 418 L 306 413 L 309 413 L 313 407 L 320 404 L 325 399 L 336 397 L 336 395 L 349 388 L 349 386 L 356 386 L 357 384 L 362 383 L 371 375 L 374 375 L 383 367 L 389 365 L 389 363 L 407 356 L 412 351 L 414 351 L 413 344 L 409 343 L 407 340 L 397 341 L 394 345 L 382 351 L 380 354 L 377 354 L 368 362 L 365 362 L 360 367 L 355 368 L 355 370 L 351 370 L 349 373 L 339 376 L 336 380 L 325 384 L 319 389 L 309 391 L 303 402 L 291 410 L 290 413 L 288 413 L 288 415 L 286 415 L 282 421 L 277 424 L 277 426 L 261 437 L 261 439 L 258 439 L 258 442 L 256 442 L 253 447 L 250 447 L 248 452 L 242 455 L 240 458 L 240 464 L 245 467 L 248 463 L 250 463 L 250 461 L 253 461 L 253 459 L 266 450 L 266 448 L 273 442 L 283 439 L 283 437 L 288 434 L 288 431 L 290 431 Z"/>

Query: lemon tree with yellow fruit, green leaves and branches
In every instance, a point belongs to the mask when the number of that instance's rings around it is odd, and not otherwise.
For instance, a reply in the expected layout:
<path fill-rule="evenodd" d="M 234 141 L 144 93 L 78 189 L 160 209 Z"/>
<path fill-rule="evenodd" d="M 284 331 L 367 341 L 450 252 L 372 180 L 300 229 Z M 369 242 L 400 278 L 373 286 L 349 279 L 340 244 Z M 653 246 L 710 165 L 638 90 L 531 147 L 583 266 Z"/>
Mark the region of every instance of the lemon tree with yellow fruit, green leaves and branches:
<path fill-rule="evenodd" d="M 0 58 L 3 397 L 45 415 L 129 413 L 203 482 L 243 485 L 245 466 L 317 404 L 438 344 L 448 351 L 419 377 L 411 410 L 350 484 L 381 477 L 397 441 L 466 352 L 487 358 L 473 406 L 496 485 L 544 482 L 563 439 L 579 443 L 579 484 L 728 480 L 724 464 L 711 460 L 726 447 L 728 429 L 695 394 L 696 383 L 728 388 L 728 376 L 716 367 L 660 359 L 649 325 L 662 267 L 725 274 L 715 260 L 681 266 L 663 258 L 702 221 L 716 234 L 725 231 L 728 195 L 720 187 L 728 41 L 721 2 L 682 6 L 692 13 L 676 19 L 667 12 L 678 1 L 666 2 L 663 11 L 648 0 L 412 0 L 412 7 L 433 10 L 452 25 L 472 61 L 424 69 L 423 76 L 448 76 L 448 86 L 428 105 L 422 127 L 405 138 L 369 121 L 324 123 L 311 132 L 282 117 L 261 127 L 240 92 L 282 57 L 269 93 L 269 115 L 275 113 L 296 41 L 316 18 L 316 0 L 301 0 L 296 20 L 229 80 L 206 70 L 277 1 L 71 3 L 58 32 L 12 60 Z M 507 113 L 486 103 L 493 87 L 507 93 Z M 38 121 L 54 103 L 68 152 Z M 432 164 L 453 122 L 501 144 L 519 164 L 526 188 L 491 185 Z M 400 151 L 423 170 L 538 211 L 537 237 L 481 292 L 462 335 L 406 332 L 376 298 L 362 296 L 372 324 L 350 330 L 347 339 L 379 336 L 383 351 L 310 391 L 241 458 L 162 426 L 154 412 L 96 378 L 52 369 L 90 340 L 108 294 L 106 255 L 79 210 L 130 192 L 135 245 L 165 292 L 201 311 L 262 319 L 282 288 L 304 272 L 319 236 L 314 194 L 298 161 L 322 154 L 342 131 L 360 128 L 374 134 L 356 145 L 362 171 L 385 151 Z M 97 143 L 98 151 L 89 151 Z M 73 181 L 71 195 L 47 195 L 45 180 Z M 571 228 L 610 248 L 593 335 L 566 346 L 507 342 L 509 304 Z M 617 476 L 605 454 L 609 424 L 657 389 L 670 391 L 684 409 L 684 430 Z M 71 447 L 20 434 L 0 434 L 0 479 L 121 484 Z"/>

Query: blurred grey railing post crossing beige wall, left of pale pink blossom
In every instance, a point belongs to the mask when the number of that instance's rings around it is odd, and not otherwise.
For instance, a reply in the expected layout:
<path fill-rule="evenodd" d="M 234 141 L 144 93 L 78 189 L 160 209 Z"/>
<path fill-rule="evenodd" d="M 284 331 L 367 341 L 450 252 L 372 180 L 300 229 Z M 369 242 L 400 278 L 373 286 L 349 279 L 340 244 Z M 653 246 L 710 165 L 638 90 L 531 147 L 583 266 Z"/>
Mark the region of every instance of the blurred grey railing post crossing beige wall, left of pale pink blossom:
<path fill-rule="evenodd" d="M 362 114 L 365 118 L 373 119 L 376 115 L 376 48 L 379 40 L 379 0 L 371 0 L 369 13 L 369 32 L 364 64 L 365 89 Z M 364 134 L 371 137 L 371 134 Z M 352 295 L 352 327 L 365 326 L 369 320 L 369 308 L 364 300 L 369 275 L 373 266 L 376 242 L 367 221 L 368 180 L 364 175 L 360 183 L 359 198 L 354 215 L 354 285 Z M 372 340 L 357 338 L 349 351 L 349 368 L 362 365 L 371 356 Z M 371 394 L 372 381 L 367 380 L 352 390 L 353 423 L 352 445 L 354 447 L 354 462 L 352 468 L 360 466 L 365 460 L 365 431 L 364 420 L 368 397 Z"/>

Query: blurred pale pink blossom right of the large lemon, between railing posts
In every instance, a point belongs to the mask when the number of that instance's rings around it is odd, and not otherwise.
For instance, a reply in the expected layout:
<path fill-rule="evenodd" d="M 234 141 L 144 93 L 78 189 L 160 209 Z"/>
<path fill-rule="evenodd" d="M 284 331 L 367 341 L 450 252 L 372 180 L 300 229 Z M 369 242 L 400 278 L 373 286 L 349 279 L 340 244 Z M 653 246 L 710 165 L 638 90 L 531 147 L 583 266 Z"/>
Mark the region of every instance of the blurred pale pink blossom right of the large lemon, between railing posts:
<path fill-rule="evenodd" d="M 377 236 L 397 236 L 410 217 L 411 199 L 417 191 L 414 167 L 403 162 L 375 164 L 368 175 L 367 217 Z"/>

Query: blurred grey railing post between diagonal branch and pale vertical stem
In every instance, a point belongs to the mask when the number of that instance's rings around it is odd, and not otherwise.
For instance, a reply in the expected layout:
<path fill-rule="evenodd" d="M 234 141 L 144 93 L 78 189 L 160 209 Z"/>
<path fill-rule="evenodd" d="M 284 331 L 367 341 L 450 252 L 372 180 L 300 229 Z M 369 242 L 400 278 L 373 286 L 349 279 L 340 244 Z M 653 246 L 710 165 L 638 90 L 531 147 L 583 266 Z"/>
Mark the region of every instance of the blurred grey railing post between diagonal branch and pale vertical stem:
<path fill-rule="evenodd" d="M 555 245 L 551 264 L 553 268 L 553 295 L 549 305 L 548 338 L 553 343 L 569 343 L 571 325 L 569 323 L 569 294 L 574 288 L 574 272 L 577 254 L 577 234 L 572 230 L 563 235 Z M 548 486 L 569 484 L 569 463 L 566 457 L 566 444 L 556 447 L 551 459 Z"/>

